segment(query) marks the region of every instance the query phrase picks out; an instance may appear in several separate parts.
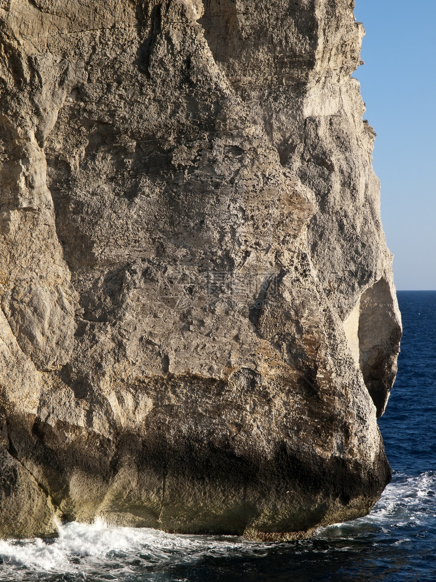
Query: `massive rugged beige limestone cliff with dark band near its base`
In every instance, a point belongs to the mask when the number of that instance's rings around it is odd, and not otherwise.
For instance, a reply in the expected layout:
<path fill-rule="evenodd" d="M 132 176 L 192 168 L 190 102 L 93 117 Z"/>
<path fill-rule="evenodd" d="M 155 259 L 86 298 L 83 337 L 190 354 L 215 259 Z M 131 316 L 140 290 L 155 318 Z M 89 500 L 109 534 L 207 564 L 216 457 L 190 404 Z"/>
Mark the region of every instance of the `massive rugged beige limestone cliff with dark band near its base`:
<path fill-rule="evenodd" d="M 337 0 L 0 2 L 0 535 L 369 512 L 401 324 Z"/>

